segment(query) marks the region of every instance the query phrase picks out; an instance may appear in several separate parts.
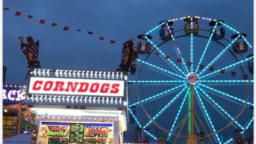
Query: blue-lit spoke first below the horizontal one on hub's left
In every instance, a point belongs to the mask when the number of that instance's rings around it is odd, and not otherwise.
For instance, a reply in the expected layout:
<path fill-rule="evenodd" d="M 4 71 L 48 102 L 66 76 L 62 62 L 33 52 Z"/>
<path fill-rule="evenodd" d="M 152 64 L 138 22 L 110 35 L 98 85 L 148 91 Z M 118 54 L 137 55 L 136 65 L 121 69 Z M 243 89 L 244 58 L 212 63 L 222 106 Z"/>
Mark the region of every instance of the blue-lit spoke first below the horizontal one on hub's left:
<path fill-rule="evenodd" d="M 141 101 L 138 101 L 137 103 L 134 103 L 134 104 L 129 105 L 129 107 L 138 106 L 138 105 L 140 105 L 140 103 L 145 104 L 145 103 L 148 103 L 149 101 L 152 101 L 152 100 L 155 100 L 155 99 L 157 99 L 157 98 L 160 98 L 160 97 L 169 95 L 169 94 L 171 94 L 172 92 L 174 92 L 175 90 L 178 90 L 179 88 L 185 86 L 186 84 L 187 84 L 187 83 L 183 83 L 183 84 L 181 84 L 180 86 L 174 87 L 174 88 L 172 88 L 172 89 L 163 91 L 163 92 L 161 92 L 161 93 L 159 93 L 159 94 L 156 94 L 156 95 L 154 95 L 154 96 L 151 96 L 151 97 L 149 97 L 149 98 L 146 98 L 146 99 L 143 99 L 143 100 L 141 100 Z"/>

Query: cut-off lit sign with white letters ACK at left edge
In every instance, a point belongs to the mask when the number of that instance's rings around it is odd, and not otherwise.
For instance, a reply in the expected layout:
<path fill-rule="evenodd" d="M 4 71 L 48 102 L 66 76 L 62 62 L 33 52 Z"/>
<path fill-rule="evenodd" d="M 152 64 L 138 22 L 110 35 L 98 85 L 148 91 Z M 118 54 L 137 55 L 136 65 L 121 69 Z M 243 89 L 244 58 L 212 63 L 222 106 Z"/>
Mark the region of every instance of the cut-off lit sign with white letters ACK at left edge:
<path fill-rule="evenodd" d="M 26 90 L 22 88 L 3 88 L 2 97 L 4 103 L 19 103 L 27 99 Z"/>

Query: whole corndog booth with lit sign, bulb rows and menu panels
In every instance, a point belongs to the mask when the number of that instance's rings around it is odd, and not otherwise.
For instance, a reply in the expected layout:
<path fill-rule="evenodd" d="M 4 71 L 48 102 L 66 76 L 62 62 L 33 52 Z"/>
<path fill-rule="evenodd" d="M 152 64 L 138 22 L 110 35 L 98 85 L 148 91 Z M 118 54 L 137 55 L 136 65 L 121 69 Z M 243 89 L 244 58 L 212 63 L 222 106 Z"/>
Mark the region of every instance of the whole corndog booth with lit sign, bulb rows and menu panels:
<path fill-rule="evenodd" d="M 31 123 L 35 119 L 31 143 L 123 143 L 124 73 L 34 69 L 27 81 L 23 104 Z"/>

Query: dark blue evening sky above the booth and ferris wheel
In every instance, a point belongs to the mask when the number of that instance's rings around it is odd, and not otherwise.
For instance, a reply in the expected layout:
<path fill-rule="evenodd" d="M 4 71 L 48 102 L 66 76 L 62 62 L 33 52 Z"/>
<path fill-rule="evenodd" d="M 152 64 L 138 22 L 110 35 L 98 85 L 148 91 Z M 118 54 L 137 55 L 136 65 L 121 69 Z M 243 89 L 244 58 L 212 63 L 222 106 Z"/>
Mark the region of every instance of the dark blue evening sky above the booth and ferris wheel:
<path fill-rule="evenodd" d="M 7 67 L 6 83 L 26 84 L 27 62 L 20 50 L 17 40 L 19 36 L 33 36 L 35 40 L 39 39 L 39 61 L 45 68 L 85 70 L 115 70 L 117 68 L 122 50 L 121 45 L 100 41 L 97 37 L 86 33 L 63 31 L 62 27 L 51 27 L 51 22 L 84 31 L 93 31 L 97 35 L 125 42 L 129 38 L 137 41 L 138 34 L 154 28 L 159 21 L 198 15 L 224 20 L 236 30 L 247 33 L 247 40 L 253 45 L 253 1 L 13 0 L 4 1 L 3 7 L 46 20 L 43 25 L 38 23 L 38 19 L 29 20 L 26 15 L 18 17 L 14 16 L 14 12 L 11 11 L 3 13 L 3 64 Z M 205 43 L 206 41 L 202 45 Z M 185 50 L 183 52 L 186 53 Z M 249 52 L 253 51 L 249 50 Z M 208 61 L 210 60 L 212 59 L 209 58 Z M 159 88 L 155 91 L 161 90 L 162 88 Z M 131 101 L 136 100 L 131 99 Z M 158 105 L 160 109 L 164 106 L 159 103 Z M 143 115 L 142 111 L 140 114 Z M 132 131 L 130 129 L 129 133 L 131 134 Z"/>

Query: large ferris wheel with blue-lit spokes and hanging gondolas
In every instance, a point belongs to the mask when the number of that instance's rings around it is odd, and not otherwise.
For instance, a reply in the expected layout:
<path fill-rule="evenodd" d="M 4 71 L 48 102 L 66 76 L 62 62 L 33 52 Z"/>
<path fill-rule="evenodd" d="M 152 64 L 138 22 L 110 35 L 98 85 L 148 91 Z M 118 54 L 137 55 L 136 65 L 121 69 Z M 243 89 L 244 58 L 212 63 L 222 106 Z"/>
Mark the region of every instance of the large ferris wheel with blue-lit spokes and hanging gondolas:
<path fill-rule="evenodd" d="M 253 122 L 253 54 L 245 37 L 199 16 L 162 21 L 139 35 L 129 112 L 143 132 L 157 140 L 149 131 L 156 126 L 172 143 L 229 143 L 234 131 L 245 133 Z"/>

